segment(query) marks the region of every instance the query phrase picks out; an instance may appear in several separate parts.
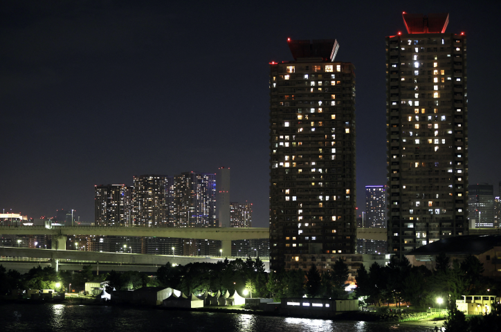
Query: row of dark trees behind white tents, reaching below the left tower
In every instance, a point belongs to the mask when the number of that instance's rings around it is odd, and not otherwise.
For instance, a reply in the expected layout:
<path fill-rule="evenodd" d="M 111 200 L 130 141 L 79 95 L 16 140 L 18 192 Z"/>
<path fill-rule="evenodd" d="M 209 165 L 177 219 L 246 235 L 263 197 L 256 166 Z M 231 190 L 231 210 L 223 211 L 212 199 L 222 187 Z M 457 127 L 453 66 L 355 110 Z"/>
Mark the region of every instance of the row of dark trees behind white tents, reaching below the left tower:
<path fill-rule="evenodd" d="M 342 259 L 333 268 L 320 275 L 313 264 L 303 270 L 282 270 L 266 273 L 263 262 L 257 258 L 218 261 L 217 263 L 190 263 L 173 266 L 170 263 L 158 268 L 156 279 L 148 279 L 136 272 L 107 275 L 109 289 L 136 289 L 142 286 L 162 286 L 179 289 L 185 294 L 205 291 L 250 292 L 253 297 L 346 297 L 345 283 L 349 276 L 348 266 Z"/>

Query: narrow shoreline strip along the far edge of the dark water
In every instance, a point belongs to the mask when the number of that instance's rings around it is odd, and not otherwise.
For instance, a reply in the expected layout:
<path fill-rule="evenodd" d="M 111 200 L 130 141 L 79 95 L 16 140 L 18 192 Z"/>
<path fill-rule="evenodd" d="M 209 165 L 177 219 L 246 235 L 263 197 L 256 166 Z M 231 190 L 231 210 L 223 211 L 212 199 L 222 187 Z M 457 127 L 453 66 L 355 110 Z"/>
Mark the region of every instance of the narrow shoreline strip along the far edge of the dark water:
<path fill-rule="evenodd" d="M 417 327 L 428 327 L 430 329 L 435 326 L 441 328 L 444 325 L 445 320 L 412 320 L 407 322 L 399 322 L 398 320 L 378 320 L 376 315 L 371 315 L 370 313 L 365 313 L 363 311 L 352 311 L 339 313 L 338 315 L 325 316 L 325 315 L 288 315 L 286 313 L 280 313 L 276 311 L 260 311 L 253 309 L 244 308 L 224 308 L 220 306 L 214 307 L 203 307 L 203 308 L 167 308 L 164 306 L 148 306 L 144 304 L 125 304 L 116 302 L 97 302 L 94 299 L 64 299 L 62 302 L 53 301 L 33 301 L 31 299 L 3 299 L 0 301 L 0 306 L 2 304 L 64 304 L 64 305 L 84 305 L 84 306 L 125 306 L 137 309 L 154 309 L 163 311 L 190 311 L 194 313 L 226 313 L 226 314 L 243 314 L 243 315 L 260 315 L 260 316 L 271 316 L 271 317 L 295 317 L 295 318 L 305 318 L 311 320 L 332 320 L 334 322 L 340 321 L 352 321 L 352 322 L 371 322 L 376 324 L 382 324 L 385 326 L 392 325 L 405 325 L 405 326 L 417 326 Z M 369 319 L 367 319 L 369 318 Z"/>

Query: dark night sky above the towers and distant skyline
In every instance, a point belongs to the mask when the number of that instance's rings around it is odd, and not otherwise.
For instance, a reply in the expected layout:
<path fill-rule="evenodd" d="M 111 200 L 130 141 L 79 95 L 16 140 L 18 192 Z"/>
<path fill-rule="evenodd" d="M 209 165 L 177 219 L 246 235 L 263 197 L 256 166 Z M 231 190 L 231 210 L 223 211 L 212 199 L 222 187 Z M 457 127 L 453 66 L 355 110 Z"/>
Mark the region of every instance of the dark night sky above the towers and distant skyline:
<path fill-rule="evenodd" d="M 226 166 L 267 226 L 268 62 L 291 60 L 287 37 L 336 38 L 356 66 L 363 209 L 386 181 L 385 36 L 404 10 L 468 36 L 469 180 L 498 183 L 501 5 L 477 3 L 2 1 L 0 209 L 93 221 L 94 185 Z"/>

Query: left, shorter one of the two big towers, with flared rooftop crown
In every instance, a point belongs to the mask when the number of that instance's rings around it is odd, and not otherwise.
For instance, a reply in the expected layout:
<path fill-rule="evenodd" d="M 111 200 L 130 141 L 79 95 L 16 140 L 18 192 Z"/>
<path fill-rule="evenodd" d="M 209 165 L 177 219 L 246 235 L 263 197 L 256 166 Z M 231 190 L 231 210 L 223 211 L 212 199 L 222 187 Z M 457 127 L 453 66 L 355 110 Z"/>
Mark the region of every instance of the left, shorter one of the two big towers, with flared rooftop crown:
<path fill-rule="evenodd" d="M 285 255 L 354 253 L 355 67 L 334 39 L 291 40 L 270 66 L 271 269 Z"/>

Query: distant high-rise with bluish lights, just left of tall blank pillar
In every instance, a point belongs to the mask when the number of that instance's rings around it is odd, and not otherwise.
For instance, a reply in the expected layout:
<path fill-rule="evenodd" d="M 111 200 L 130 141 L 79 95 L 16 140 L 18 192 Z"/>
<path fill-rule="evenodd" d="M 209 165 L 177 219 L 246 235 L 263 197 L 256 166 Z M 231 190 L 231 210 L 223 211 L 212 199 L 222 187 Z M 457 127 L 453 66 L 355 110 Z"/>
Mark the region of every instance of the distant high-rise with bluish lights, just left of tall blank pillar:
<path fill-rule="evenodd" d="M 211 227 L 216 219 L 215 174 L 185 172 L 174 177 L 176 227 Z"/>

